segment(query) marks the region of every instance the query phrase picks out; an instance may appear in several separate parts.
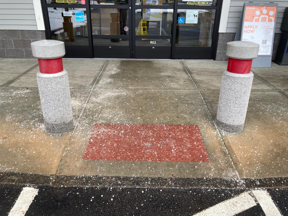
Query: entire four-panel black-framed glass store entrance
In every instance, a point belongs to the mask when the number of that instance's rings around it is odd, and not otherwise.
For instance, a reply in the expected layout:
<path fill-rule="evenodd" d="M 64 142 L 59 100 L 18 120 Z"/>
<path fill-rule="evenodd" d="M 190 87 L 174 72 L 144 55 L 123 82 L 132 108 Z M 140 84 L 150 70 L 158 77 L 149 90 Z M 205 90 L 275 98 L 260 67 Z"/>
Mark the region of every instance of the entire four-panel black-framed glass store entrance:
<path fill-rule="evenodd" d="M 213 59 L 217 0 L 42 0 L 69 58 Z"/>

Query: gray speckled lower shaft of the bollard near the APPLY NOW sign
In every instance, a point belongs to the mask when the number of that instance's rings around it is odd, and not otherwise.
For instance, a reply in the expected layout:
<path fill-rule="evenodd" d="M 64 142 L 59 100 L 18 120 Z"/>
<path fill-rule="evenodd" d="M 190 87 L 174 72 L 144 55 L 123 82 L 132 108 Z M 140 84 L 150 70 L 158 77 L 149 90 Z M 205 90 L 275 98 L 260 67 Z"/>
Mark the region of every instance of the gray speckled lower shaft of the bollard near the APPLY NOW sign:
<path fill-rule="evenodd" d="M 251 92 L 254 74 L 223 71 L 218 110 L 217 127 L 230 133 L 241 132 Z"/>

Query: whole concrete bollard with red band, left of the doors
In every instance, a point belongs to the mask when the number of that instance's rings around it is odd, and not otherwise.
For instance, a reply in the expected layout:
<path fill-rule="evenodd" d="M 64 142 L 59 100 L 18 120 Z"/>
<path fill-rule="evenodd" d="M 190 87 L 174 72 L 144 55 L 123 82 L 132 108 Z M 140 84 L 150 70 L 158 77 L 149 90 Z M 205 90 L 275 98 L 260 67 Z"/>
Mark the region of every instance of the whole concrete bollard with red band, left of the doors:
<path fill-rule="evenodd" d="M 68 74 L 62 63 L 64 42 L 35 41 L 31 43 L 31 48 L 39 63 L 36 75 L 46 131 L 65 133 L 73 128 L 73 115 Z"/>

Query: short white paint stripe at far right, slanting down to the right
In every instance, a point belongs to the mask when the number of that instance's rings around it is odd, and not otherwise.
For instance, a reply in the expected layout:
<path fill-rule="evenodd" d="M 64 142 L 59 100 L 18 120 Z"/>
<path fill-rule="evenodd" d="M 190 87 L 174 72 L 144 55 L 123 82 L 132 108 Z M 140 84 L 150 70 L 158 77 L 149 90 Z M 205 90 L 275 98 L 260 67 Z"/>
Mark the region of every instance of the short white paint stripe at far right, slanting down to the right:
<path fill-rule="evenodd" d="M 281 216 L 281 213 L 275 206 L 267 191 L 253 190 L 252 193 L 259 202 L 266 216 Z"/>

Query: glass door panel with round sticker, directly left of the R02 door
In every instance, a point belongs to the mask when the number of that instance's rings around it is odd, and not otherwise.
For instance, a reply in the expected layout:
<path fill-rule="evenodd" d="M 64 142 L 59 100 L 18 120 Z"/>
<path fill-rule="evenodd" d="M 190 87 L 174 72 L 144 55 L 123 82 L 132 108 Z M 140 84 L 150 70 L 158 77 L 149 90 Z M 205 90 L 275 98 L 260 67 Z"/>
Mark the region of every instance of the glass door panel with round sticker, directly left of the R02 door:
<path fill-rule="evenodd" d="M 90 2 L 93 57 L 132 58 L 128 0 Z"/>

